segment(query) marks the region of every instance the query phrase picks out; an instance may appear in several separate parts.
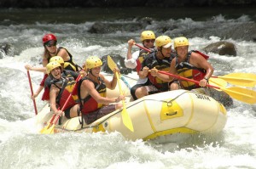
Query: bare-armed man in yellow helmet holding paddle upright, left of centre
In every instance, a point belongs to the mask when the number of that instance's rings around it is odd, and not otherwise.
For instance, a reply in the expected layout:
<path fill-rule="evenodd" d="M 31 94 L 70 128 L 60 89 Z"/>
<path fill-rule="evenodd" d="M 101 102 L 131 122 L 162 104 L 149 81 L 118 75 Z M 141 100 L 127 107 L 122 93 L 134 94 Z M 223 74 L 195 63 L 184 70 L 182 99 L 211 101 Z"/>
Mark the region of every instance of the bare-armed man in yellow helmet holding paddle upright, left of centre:
<path fill-rule="evenodd" d="M 125 99 L 125 97 L 123 95 L 118 98 L 106 97 L 107 87 L 111 90 L 116 87 L 117 77 L 115 72 L 119 72 L 118 69 L 113 70 L 113 79 L 108 81 L 101 74 L 101 59 L 96 56 L 90 56 L 86 59 L 84 65 L 88 74 L 79 81 L 79 107 L 85 123 L 90 124 L 102 116 L 121 108 L 123 105 L 119 104 L 119 101 Z"/>

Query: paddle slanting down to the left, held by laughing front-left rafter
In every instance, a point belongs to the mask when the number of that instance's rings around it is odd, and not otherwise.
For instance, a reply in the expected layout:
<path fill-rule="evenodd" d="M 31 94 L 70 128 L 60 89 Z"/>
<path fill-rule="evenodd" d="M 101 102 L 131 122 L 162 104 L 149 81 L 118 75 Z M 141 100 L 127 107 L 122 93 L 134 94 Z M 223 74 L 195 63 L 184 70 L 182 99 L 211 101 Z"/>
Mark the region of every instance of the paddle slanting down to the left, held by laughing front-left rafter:
<path fill-rule="evenodd" d="M 81 79 L 81 75 L 79 74 L 79 76 L 77 77 L 76 79 L 76 82 L 79 82 L 79 80 Z M 77 84 L 75 84 L 75 86 L 73 87 L 73 91 L 74 89 L 77 87 Z M 72 94 L 73 94 L 73 91 L 72 93 L 69 93 L 69 96 L 65 102 L 65 104 L 63 105 L 63 107 L 61 108 L 61 111 L 63 111 L 69 101 L 69 99 L 72 97 Z M 60 108 L 58 108 L 58 110 L 60 110 Z M 53 134 L 55 131 L 55 125 L 57 123 L 57 121 L 59 120 L 59 118 L 61 117 L 61 115 L 57 115 L 57 117 L 55 118 L 55 114 L 51 117 L 51 120 L 49 121 L 49 124 L 44 127 L 40 132 L 43 133 L 43 134 Z M 55 120 L 55 121 L 54 121 Z"/>

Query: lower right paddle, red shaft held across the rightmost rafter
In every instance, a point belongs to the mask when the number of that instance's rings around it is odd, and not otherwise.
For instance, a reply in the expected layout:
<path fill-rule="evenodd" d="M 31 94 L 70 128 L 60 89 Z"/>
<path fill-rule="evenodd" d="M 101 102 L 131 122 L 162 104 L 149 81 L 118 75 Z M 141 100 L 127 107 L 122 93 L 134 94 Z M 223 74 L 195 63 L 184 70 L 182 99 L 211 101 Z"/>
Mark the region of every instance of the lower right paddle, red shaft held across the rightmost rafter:
<path fill-rule="evenodd" d="M 196 84 L 199 84 L 199 82 L 197 82 L 195 80 L 188 79 L 188 78 L 185 78 L 182 76 L 176 76 L 176 75 L 173 75 L 166 71 L 159 70 L 158 72 L 160 72 L 161 74 L 168 75 L 168 76 L 176 77 L 178 79 L 183 79 L 185 81 L 195 82 Z M 249 90 L 247 88 L 241 88 L 241 87 L 224 88 L 224 87 L 215 87 L 215 86 L 212 86 L 209 84 L 207 84 L 207 87 L 218 88 L 218 89 L 224 91 L 225 93 L 228 93 L 232 98 L 240 100 L 247 104 L 255 104 L 256 103 L 256 92 L 253 90 Z"/>

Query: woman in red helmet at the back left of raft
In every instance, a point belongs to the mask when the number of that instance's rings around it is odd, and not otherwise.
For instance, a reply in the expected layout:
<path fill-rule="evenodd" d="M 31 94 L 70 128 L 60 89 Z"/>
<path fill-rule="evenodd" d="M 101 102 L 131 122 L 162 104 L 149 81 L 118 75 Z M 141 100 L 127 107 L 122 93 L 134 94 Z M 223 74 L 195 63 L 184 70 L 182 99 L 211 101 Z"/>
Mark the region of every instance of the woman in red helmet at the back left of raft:
<path fill-rule="evenodd" d="M 44 54 L 43 54 L 43 67 L 34 67 L 32 65 L 25 65 L 26 70 L 33 70 L 33 71 L 40 71 L 44 73 L 44 78 L 40 82 L 40 86 L 38 87 L 38 90 L 32 95 L 32 99 L 35 99 L 39 93 L 44 88 L 44 82 L 46 78 L 48 77 L 48 74 L 46 73 L 46 65 L 49 64 L 49 59 L 58 55 L 61 56 L 61 58 L 64 60 L 64 69 L 65 70 L 73 70 L 73 71 L 79 71 L 79 65 L 76 65 L 73 63 L 73 56 L 70 54 L 66 48 L 59 47 L 57 48 L 57 38 L 54 34 L 46 34 L 43 37 L 43 45 L 44 45 Z M 47 100 L 48 97 L 47 94 L 44 93 L 42 96 L 42 100 Z"/>

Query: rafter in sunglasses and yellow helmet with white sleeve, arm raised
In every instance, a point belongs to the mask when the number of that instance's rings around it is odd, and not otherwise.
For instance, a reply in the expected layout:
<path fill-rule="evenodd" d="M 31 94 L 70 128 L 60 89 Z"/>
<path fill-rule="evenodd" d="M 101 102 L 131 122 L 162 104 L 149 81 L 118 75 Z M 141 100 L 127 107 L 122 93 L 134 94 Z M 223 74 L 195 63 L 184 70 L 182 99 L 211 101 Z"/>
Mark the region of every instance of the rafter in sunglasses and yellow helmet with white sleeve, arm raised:
<path fill-rule="evenodd" d="M 151 51 L 154 51 L 154 42 L 155 42 L 155 35 L 153 31 L 143 31 L 140 37 L 141 42 L 143 43 L 144 48 L 148 48 Z M 133 39 L 128 41 L 128 52 L 125 58 L 125 66 L 130 69 L 136 69 L 139 79 L 137 80 L 137 85 L 131 87 L 131 95 L 135 98 L 135 91 L 137 87 L 142 87 L 148 82 L 148 78 L 142 77 L 139 74 L 139 71 L 142 68 L 142 63 L 145 56 L 148 54 L 148 51 L 145 51 L 142 48 L 139 48 L 135 53 L 131 54 L 131 49 L 136 42 Z"/>

